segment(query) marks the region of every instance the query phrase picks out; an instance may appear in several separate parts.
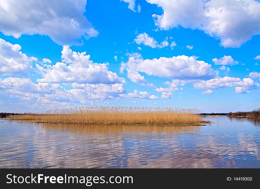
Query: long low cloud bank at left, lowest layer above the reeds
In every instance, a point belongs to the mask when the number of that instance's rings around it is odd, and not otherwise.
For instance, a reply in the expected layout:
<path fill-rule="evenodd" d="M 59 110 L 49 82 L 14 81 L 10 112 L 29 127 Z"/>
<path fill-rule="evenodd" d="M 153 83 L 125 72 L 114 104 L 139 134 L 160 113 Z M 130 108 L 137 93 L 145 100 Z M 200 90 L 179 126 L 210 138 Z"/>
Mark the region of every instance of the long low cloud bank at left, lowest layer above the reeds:
<path fill-rule="evenodd" d="M 33 83 L 29 78 L 8 77 L 0 79 L 0 94 L 8 94 L 11 99 L 24 100 L 30 105 L 67 105 L 66 103 L 91 104 L 93 101 L 104 101 L 120 98 L 125 92 L 123 84 L 70 84 L 66 90 L 58 83 Z M 4 100 L 3 98 L 1 98 Z M 65 103 L 65 104 L 64 104 Z M 45 104 L 46 106 L 46 104 Z"/>

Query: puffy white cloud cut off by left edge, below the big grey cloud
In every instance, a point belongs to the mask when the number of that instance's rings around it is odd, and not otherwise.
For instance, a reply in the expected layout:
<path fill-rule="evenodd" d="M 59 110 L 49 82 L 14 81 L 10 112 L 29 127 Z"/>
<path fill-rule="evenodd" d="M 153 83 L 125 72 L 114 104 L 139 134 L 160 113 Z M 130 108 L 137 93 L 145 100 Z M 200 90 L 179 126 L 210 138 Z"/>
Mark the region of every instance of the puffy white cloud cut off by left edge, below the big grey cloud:
<path fill-rule="evenodd" d="M 32 70 L 32 62 L 35 57 L 27 57 L 22 53 L 19 44 L 11 44 L 0 38 L 0 75 L 27 76 Z"/>

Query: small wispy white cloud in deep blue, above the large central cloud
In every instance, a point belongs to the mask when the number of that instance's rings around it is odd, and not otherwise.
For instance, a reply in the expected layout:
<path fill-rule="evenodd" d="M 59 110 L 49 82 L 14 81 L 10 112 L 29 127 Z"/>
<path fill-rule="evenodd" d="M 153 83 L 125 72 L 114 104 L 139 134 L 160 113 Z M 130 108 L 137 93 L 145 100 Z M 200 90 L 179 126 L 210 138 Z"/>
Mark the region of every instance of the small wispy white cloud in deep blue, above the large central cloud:
<path fill-rule="evenodd" d="M 149 35 L 145 32 L 137 35 L 137 37 L 134 39 L 134 42 L 136 42 L 137 44 L 144 44 L 146 46 L 158 49 L 169 46 L 168 37 L 166 37 L 163 42 L 158 44 L 158 42 L 153 37 L 149 37 Z"/>

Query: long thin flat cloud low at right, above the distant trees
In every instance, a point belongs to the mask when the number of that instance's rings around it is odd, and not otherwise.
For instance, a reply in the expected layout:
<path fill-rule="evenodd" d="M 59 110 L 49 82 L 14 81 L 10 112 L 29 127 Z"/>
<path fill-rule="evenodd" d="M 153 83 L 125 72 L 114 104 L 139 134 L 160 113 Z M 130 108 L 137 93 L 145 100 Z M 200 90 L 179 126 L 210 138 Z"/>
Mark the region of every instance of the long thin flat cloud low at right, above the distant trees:
<path fill-rule="evenodd" d="M 225 87 L 235 87 L 236 93 L 249 93 L 248 90 L 256 89 L 260 87 L 259 83 L 254 82 L 251 78 L 240 78 L 235 77 L 219 77 L 215 79 L 210 79 L 208 81 L 201 81 L 194 83 L 195 89 L 219 89 Z"/>

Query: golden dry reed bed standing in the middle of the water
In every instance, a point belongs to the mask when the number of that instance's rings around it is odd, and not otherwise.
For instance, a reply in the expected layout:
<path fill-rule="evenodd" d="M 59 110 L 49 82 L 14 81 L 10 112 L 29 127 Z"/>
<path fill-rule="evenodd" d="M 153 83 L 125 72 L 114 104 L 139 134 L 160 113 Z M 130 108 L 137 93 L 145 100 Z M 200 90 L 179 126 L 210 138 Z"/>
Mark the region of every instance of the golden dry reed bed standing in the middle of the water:
<path fill-rule="evenodd" d="M 77 125 L 196 125 L 199 110 L 170 107 L 75 107 L 51 109 L 27 115 L 10 115 L 10 120 Z"/>

